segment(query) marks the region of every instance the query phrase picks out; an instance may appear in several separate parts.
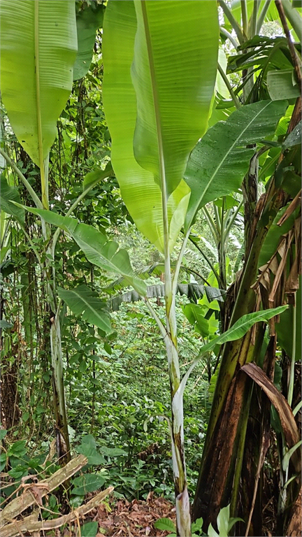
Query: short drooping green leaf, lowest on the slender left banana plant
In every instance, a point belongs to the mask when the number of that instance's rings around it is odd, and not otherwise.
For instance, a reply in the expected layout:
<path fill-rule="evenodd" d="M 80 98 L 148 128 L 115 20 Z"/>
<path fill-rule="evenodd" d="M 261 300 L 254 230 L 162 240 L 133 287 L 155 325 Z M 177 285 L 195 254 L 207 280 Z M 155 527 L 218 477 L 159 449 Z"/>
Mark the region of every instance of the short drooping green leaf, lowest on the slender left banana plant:
<path fill-rule="evenodd" d="M 82 319 L 95 324 L 106 334 L 112 331 L 107 304 L 99 299 L 96 291 L 87 285 L 78 285 L 74 289 L 58 287 L 58 294 L 75 315 L 81 315 Z"/>

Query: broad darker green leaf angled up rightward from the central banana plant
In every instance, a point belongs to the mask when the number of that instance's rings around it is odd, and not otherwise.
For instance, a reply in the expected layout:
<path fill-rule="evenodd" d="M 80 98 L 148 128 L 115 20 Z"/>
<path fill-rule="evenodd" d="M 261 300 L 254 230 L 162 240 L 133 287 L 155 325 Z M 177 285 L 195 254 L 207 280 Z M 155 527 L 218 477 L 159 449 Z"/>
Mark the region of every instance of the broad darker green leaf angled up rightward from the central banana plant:
<path fill-rule="evenodd" d="M 287 101 L 248 104 L 226 122 L 208 129 L 192 151 L 185 171 L 191 189 L 185 229 L 206 203 L 240 187 L 254 154 L 254 149 L 246 146 L 272 136 L 286 108 Z"/>

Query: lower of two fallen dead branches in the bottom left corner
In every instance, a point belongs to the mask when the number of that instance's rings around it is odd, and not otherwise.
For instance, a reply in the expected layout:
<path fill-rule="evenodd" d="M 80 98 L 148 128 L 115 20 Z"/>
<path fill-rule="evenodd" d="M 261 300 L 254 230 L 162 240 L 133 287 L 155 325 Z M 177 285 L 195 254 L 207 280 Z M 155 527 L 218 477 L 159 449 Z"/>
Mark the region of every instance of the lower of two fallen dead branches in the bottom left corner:
<path fill-rule="evenodd" d="M 77 509 L 71 511 L 71 513 L 68 515 L 63 515 L 55 520 L 34 521 L 32 515 L 29 515 L 29 517 L 26 517 L 23 520 L 14 520 L 10 524 L 6 524 L 6 526 L 1 529 L 1 537 L 16 537 L 26 533 L 27 531 L 29 531 L 29 533 L 34 531 L 48 531 L 50 529 L 59 528 L 64 524 L 69 524 L 74 520 L 79 520 L 84 515 L 87 515 L 89 511 L 99 506 L 99 503 L 101 503 L 101 501 L 113 491 L 113 488 L 114 487 L 108 487 L 108 489 L 99 492 L 99 494 L 96 494 L 94 498 Z"/>

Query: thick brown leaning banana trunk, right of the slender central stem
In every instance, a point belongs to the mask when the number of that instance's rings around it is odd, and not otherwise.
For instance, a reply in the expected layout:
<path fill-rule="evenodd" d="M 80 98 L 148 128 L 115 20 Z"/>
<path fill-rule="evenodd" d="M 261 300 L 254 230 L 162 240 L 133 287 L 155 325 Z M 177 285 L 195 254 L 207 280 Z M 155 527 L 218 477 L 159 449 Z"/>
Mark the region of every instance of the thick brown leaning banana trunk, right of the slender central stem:
<path fill-rule="evenodd" d="M 296 102 L 296 107 L 289 125 L 289 132 L 298 124 L 301 117 L 301 99 Z M 282 155 L 280 160 L 282 159 Z M 252 313 L 256 306 L 256 294 L 251 286 L 257 279 L 259 255 L 264 239 L 271 227 L 278 210 L 287 203 L 288 195 L 280 188 L 275 187 L 274 177 L 271 178 L 266 194 L 261 196 L 254 210 L 253 220 L 250 222 L 249 250 L 245 256 L 245 266 L 240 280 L 238 296 L 231 315 L 230 326 L 242 315 Z M 278 306 L 279 304 L 275 304 Z M 259 330 L 257 331 L 259 334 Z M 255 345 L 257 343 L 257 345 Z M 244 439 L 236 443 L 236 435 L 240 435 L 240 412 L 245 410 L 245 380 L 242 373 L 238 373 L 243 364 L 257 357 L 257 348 L 261 348 L 261 337 L 248 333 L 239 341 L 233 341 L 224 345 L 220 372 L 213 398 L 213 405 L 208 424 L 206 442 L 203 449 L 199 480 L 196 487 L 196 495 L 193 505 L 193 519 L 203 517 L 204 529 L 208 524 L 215 524 L 217 513 L 226 499 L 224 489 L 227 487 L 227 475 L 231 461 L 236 459 L 239 453 L 233 453 L 234 445 L 243 445 Z M 254 407 L 254 405 L 253 405 Z M 258 420 L 261 416 L 258 411 Z M 257 419 L 257 418 L 256 418 Z M 263 438 L 262 429 L 257 431 L 253 442 L 261 445 Z M 238 461 L 239 462 L 239 461 Z M 251 468 L 245 488 L 254 489 L 257 466 Z M 240 476 L 238 476 L 239 478 Z M 250 496 L 250 495 L 249 495 Z M 247 500 L 250 503 L 250 499 Z M 233 507 L 237 506 L 233 501 Z M 250 506 L 245 506 L 246 512 Z M 235 513 L 232 513 L 235 515 Z"/>

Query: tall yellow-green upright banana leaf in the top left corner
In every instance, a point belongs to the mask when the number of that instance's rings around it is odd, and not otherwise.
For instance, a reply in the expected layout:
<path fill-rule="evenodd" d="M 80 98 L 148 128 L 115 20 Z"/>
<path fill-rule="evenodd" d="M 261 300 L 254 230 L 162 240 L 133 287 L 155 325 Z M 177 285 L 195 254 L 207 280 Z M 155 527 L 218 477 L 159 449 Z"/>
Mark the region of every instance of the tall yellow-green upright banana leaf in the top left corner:
<path fill-rule="evenodd" d="M 73 0 L 1 0 L 1 96 L 18 141 L 42 168 L 69 98 Z"/>

